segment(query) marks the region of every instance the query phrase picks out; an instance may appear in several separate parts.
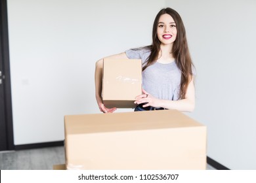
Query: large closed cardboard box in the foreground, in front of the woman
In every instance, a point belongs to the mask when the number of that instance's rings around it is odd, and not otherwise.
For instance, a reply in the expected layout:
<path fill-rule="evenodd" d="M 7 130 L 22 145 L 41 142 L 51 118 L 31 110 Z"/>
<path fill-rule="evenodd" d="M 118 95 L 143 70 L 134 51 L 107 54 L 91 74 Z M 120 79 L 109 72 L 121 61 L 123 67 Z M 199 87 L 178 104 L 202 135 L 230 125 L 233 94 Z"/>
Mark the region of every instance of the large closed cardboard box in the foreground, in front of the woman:
<path fill-rule="evenodd" d="M 177 110 L 64 121 L 67 169 L 206 169 L 206 127 Z"/>

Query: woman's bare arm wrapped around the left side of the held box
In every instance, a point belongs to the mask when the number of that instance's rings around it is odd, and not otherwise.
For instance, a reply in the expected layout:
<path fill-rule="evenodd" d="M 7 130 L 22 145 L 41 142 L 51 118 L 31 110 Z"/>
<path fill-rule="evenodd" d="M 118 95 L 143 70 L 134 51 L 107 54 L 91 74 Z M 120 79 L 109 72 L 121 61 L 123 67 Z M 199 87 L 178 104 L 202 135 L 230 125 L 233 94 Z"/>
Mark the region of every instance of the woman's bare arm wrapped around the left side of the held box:
<path fill-rule="evenodd" d="M 121 54 L 116 54 L 113 56 L 108 56 L 106 58 L 128 59 L 125 52 L 123 52 Z M 104 113 L 114 112 L 116 110 L 116 107 L 106 108 L 106 107 L 104 107 L 104 104 L 102 101 L 101 93 L 102 93 L 103 59 L 99 59 L 98 61 L 96 61 L 96 64 L 95 64 L 95 97 L 96 97 L 96 101 L 98 103 L 98 107 L 100 108 L 101 112 L 104 112 Z"/>

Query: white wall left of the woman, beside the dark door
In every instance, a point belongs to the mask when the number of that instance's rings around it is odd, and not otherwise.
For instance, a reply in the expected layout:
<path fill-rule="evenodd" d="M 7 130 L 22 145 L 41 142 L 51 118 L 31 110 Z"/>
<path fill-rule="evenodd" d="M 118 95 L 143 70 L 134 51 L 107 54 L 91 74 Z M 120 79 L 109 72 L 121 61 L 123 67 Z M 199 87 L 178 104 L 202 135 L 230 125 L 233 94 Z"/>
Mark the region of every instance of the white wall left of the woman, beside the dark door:
<path fill-rule="evenodd" d="M 62 141 L 64 115 L 100 112 L 95 61 L 150 44 L 165 1 L 8 0 L 7 6 L 18 145 Z"/>

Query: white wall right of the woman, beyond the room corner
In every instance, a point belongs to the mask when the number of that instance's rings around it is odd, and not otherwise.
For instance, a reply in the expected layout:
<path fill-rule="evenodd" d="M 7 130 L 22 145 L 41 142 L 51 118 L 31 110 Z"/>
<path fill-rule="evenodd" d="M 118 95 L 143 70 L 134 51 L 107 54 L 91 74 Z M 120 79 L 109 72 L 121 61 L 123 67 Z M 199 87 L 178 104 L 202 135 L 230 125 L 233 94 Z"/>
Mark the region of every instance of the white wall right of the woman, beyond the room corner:
<path fill-rule="evenodd" d="M 167 0 L 184 20 L 197 69 L 196 110 L 208 156 L 256 169 L 256 1 Z"/>

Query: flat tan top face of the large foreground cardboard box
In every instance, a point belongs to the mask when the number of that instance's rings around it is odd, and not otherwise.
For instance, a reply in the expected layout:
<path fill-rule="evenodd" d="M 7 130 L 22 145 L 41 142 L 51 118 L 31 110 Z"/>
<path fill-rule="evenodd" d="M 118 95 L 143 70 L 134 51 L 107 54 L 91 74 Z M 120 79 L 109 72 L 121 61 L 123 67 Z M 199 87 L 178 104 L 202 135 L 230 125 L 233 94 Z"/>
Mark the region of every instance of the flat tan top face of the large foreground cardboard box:
<path fill-rule="evenodd" d="M 177 110 L 70 115 L 64 120 L 66 134 L 202 126 Z"/>

